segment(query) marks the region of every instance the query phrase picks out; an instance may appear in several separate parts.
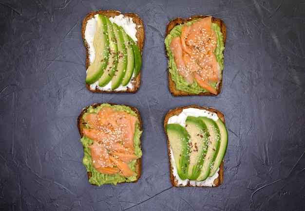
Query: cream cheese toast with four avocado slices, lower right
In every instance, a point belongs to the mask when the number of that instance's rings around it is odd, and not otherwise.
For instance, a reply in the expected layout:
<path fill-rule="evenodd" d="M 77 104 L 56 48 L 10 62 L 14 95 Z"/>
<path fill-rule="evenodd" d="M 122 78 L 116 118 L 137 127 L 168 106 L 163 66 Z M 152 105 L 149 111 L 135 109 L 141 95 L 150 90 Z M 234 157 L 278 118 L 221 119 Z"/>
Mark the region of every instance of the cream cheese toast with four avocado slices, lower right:
<path fill-rule="evenodd" d="M 171 183 L 175 187 L 217 187 L 223 181 L 228 145 L 224 115 L 190 105 L 170 110 L 164 119 Z"/>

